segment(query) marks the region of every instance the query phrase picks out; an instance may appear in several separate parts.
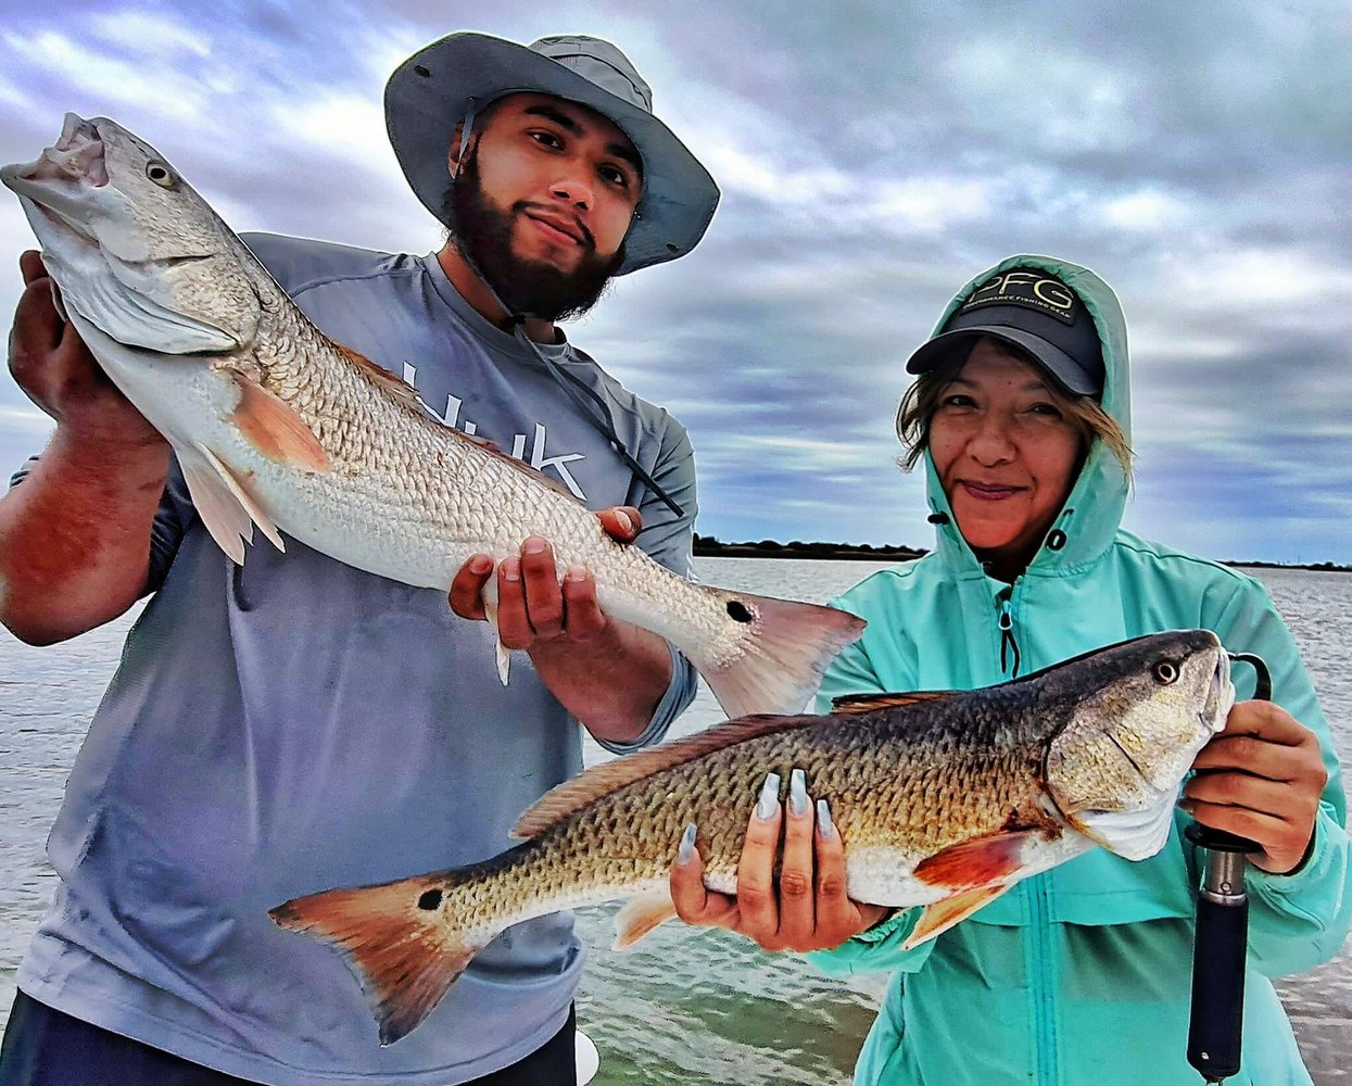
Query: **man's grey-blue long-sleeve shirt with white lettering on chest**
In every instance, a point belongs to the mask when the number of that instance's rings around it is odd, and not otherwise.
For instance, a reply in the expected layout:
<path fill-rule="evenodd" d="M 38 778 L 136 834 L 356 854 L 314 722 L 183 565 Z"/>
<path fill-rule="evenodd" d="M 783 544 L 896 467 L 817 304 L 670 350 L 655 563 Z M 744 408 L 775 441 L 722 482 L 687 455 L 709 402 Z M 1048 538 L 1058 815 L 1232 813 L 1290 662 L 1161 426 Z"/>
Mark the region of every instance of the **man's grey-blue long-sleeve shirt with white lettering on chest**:
<path fill-rule="evenodd" d="M 448 425 L 557 477 L 589 507 L 637 504 L 654 559 L 690 571 L 692 454 L 667 411 L 571 346 L 545 348 L 611 406 L 681 504 L 646 492 L 539 358 L 475 312 L 435 257 L 246 238 L 329 335 L 403 376 Z M 181 476 L 155 518 L 154 595 L 89 728 L 49 843 L 55 902 L 19 972 L 42 1002 L 196 1063 L 273 1083 L 446 1086 L 562 1025 L 581 968 L 569 914 L 518 925 L 389 1048 L 331 948 L 266 910 L 333 886 L 487 859 L 581 767 L 579 725 L 523 653 L 500 686 L 485 623 L 439 591 L 288 540 L 235 567 Z M 638 744 L 694 697 L 675 675 Z"/>

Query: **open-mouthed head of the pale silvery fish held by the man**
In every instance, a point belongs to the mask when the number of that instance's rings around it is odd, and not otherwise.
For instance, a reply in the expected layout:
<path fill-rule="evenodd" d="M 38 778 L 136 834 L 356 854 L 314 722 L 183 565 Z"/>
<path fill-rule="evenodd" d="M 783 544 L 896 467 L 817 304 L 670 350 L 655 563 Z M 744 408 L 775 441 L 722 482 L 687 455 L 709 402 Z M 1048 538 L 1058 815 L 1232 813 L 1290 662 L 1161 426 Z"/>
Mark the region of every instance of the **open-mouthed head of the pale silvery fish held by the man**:
<path fill-rule="evenodd" d="M 68 310 L 110 338 L 164 354 L 253 342 L 262 307 L 242 242 L 116 122 L 66 114 L 59 139 L 0 169 L 0 181 L 19 196 Z"/>

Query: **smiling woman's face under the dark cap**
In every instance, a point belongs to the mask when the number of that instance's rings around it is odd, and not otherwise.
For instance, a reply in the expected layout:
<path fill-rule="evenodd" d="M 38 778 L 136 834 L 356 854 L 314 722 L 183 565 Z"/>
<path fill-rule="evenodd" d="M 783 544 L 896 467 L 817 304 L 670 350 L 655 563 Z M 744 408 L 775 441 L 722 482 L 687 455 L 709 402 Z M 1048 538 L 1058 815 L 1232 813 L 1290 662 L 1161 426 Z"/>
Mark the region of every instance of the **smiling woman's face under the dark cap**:
<path fill-rule="evenodd" d="M 929 449 L 963 538 L 991 572 L 1021 573 L 1075 486 L 1084 440 L 1052 379 L 976 341 L 930 419 Z"/>

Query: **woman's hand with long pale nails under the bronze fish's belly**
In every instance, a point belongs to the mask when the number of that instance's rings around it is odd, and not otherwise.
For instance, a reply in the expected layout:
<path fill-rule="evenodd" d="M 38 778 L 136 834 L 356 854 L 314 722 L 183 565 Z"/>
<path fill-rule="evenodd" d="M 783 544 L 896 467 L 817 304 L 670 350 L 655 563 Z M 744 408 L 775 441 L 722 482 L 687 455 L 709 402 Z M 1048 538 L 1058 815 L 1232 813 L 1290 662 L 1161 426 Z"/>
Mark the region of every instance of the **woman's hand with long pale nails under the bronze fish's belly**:
<path fill-rule="evenodd" d="M 779 882 L 775 860 L 784 845 Z M 737 867 L 737 897 L 704 889 L 695 826 L 681 837 L 671 874 L 672 902 L 687 924 L 730 928 L 767 951 L 822 951 L 871 928 L 887 913 L 845 895 L 845 847 L 825 799 L 814 814 L 802 770 L 790 776 L 788 803 L 779 775 L 765 778 Z"/>

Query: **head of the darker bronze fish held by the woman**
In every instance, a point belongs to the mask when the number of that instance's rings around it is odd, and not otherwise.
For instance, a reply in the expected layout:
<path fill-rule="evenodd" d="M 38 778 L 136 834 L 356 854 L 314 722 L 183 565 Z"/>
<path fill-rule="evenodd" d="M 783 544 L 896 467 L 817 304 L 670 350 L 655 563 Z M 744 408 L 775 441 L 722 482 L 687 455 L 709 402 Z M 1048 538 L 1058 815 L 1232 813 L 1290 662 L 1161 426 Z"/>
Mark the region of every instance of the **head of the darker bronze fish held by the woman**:
<path fill-rule="evenodd" d="M 1072 706 L 1046 752 L 1053 803 L 1109 851 L 1153 856 L 1192 759 L 1234 705 L 1220 640 L 1210 630 L 1138 637 L 1051 678 Z"/>

